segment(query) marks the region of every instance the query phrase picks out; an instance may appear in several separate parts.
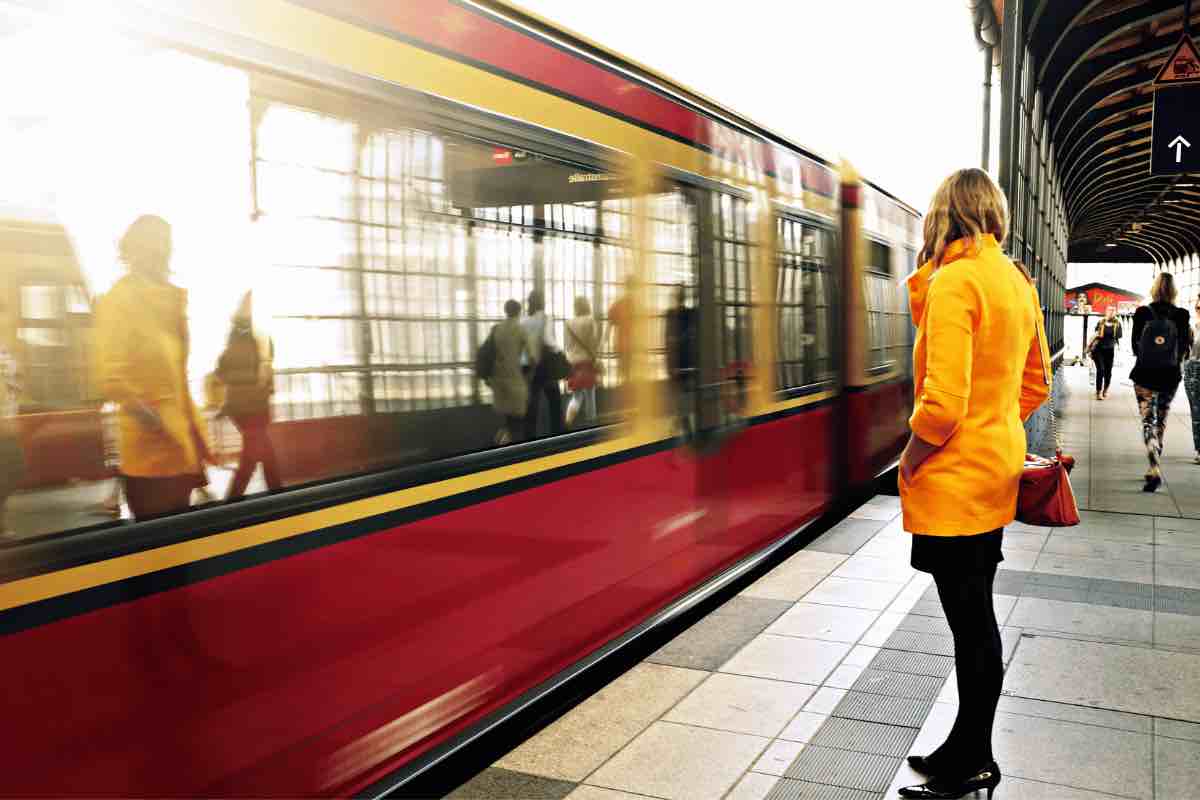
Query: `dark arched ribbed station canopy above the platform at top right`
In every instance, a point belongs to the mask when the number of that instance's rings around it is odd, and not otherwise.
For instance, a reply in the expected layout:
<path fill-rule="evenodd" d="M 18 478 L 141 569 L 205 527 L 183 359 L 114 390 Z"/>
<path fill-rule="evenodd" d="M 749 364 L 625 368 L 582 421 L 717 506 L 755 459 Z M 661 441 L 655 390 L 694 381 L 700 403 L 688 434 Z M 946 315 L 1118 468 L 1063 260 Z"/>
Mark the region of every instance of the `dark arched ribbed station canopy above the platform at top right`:
<path fill-rule="evenodd" d="M 1195 259 L 1200 174 L 1151 174 L 1154 82 L 1168 61 L 1181 58 L 1183 0 L 970 5 L 990 5 L 995 18 L 985 24 L 1020 24 L 1032 67 L 1022 79 L 1039 90 L 1067 215 L 1068 260 Z M 1193 36 L 1200 30 L 1195 10 L 1190 28 Z M 1200 85 L 1194 91 L 1200 96 Z M 1200 140 L 1193 144 L 1200 148 Z"/>

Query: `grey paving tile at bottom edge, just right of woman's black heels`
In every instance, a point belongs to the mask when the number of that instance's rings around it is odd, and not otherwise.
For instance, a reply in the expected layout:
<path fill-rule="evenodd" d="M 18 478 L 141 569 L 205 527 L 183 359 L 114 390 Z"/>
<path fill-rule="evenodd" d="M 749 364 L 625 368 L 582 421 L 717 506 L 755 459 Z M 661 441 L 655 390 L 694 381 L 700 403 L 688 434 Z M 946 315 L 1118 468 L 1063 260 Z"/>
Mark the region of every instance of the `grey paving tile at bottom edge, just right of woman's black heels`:
<path fill-rule="evenodd" d="M 1152 798 L 1151 736 L 1045 717 L 997 712 L 992 747 L 1010 776 Z"/>

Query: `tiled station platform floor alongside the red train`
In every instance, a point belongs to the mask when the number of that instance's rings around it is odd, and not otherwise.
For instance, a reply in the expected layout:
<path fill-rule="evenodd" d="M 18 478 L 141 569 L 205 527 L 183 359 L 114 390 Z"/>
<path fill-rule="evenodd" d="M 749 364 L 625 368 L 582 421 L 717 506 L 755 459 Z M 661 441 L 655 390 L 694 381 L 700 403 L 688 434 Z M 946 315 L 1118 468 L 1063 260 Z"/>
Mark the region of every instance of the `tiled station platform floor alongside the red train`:
<path fill-rule="evenodd" d="M 1118 372 L 1115 374 L 1127 374 Z M 1013 524 L 996 578 L 1000 800 L 1200 796 L 1200 465 L 1187 398 L 1141 491 L 1132 386 L 1062 371 L 1082 524 Z M 953 723 L 953 643 L 877 497 L 449 796 L 869 800 Z M 968 795 L 970 796 L 970 795 Z M 983 796 L 982 794 L 978 796 Z"/>

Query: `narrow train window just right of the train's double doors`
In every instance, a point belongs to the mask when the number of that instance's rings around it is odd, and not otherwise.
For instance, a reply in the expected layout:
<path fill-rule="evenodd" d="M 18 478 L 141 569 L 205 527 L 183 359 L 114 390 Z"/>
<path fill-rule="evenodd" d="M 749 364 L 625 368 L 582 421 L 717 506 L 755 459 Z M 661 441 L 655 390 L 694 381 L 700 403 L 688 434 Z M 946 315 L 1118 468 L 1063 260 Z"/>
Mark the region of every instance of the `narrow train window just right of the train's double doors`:
<path fill-rule="evenodd" d="M 797 389 L 829 380 L 829 231 L 790 217 L 776 218 L 779 276 L 779 387 Z"/>

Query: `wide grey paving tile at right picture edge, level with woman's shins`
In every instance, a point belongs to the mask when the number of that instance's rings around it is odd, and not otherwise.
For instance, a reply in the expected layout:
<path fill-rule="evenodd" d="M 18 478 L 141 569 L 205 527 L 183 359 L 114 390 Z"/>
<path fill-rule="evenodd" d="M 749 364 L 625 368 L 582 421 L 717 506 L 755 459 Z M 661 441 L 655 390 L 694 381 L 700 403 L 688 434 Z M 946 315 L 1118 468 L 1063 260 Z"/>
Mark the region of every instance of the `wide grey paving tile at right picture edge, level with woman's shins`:
<path fill-rule="evenodd" d="M 1200 655 L 1026 636 L 1004 693 L 1200 721 Z"/>

